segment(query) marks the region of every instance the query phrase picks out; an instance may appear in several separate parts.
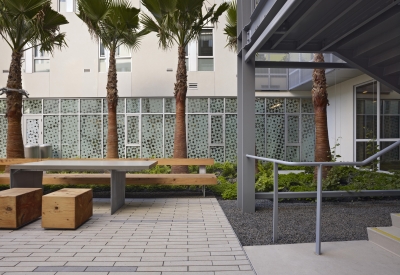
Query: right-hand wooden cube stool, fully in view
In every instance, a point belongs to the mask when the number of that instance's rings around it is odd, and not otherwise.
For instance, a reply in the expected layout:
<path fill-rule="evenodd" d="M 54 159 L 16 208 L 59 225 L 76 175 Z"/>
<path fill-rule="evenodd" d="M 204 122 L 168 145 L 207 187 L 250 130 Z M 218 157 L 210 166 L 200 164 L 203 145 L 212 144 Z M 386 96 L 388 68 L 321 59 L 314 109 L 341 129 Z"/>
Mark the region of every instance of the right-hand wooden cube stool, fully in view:
<path fill-rule="evenodd" d="M 93 215 L 92 189 L 64 188 L 43 196 L 42 227 L 76 229 Z"/>

